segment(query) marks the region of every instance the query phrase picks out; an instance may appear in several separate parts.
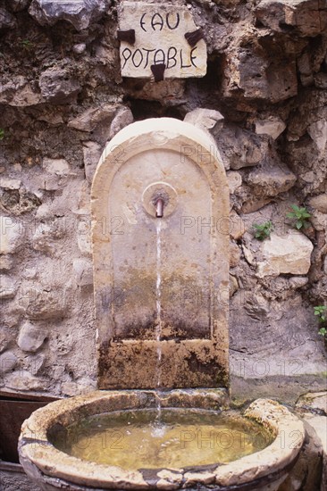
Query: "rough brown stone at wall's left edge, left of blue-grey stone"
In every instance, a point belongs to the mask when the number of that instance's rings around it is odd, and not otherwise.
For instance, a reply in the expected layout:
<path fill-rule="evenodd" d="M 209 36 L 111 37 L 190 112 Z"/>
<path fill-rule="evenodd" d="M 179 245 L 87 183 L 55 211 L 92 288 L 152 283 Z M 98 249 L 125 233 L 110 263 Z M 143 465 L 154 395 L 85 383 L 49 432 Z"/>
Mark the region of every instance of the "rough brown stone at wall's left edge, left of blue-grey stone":
<path fill-rule="evenodd" d="M 0 83 L 0 104 L 24 107 L 42 102 L 44 102 L 42 95 L 35 92 L 22 75 L 7 83 Z"/>

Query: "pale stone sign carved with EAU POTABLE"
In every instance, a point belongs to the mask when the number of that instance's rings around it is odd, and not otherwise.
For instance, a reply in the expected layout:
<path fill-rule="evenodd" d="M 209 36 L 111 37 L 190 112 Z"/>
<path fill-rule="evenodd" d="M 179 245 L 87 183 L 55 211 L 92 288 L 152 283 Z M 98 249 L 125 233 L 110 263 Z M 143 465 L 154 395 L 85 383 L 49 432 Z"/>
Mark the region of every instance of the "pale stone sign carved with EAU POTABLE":
<path fill-rule="evenodd" d="M 197 26 L 184 5 L 179 4 L 176 12 L 172 4 L 124 1 L 119 9 L 119 29 L 126 31 L 130 26 L 135 30 L 135 43 L 121 41 L 123 77 L 153 78 L 151 67 L 158 64 L 164 64 L 164 79 L 205 76 L 205 41 L 201 36 L 189 44 L 185 38 Z"/>

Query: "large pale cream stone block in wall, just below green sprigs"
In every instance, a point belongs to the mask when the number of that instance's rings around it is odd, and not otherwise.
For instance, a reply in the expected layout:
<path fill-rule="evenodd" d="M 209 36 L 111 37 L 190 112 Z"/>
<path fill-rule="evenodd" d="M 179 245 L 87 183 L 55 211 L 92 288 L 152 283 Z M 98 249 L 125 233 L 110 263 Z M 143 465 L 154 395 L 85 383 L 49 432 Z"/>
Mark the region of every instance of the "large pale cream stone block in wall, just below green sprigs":
<path fill-rule="evenodd" d="M 261 246 L 264 261 L 257 264 L 257 276 L 278 276 L 280 274 L 306 274 L 310 268 L 314 245 L 305 235 L 290 229 L 285 236 L 272 232 L 270 239 Z"/>

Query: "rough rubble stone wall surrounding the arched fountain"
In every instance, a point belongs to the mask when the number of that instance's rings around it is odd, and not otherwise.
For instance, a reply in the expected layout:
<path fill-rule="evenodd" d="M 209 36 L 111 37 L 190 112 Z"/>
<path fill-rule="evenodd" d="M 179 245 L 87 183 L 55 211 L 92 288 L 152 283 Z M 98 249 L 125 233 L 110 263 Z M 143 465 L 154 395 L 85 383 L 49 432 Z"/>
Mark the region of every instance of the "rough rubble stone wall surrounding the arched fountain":
<path fill-rule="evenodd" d="M 284 398 L 325 383 L 313 305 L 327 301 L 327 4 L 186 4 L 207 75 L 155 84 L 121 78 L 117 2 L 0 2 L 2 390 L 96 387 L 93 172 L 131 121 L 187 114 L 210 128 L 231 186 L 235 394 L 250 380 L 255 396 Z M 312 213 L 309 228 L 291 227 L 290 204 Z M 268 220 L 259 242 L 252 225 Z"/>

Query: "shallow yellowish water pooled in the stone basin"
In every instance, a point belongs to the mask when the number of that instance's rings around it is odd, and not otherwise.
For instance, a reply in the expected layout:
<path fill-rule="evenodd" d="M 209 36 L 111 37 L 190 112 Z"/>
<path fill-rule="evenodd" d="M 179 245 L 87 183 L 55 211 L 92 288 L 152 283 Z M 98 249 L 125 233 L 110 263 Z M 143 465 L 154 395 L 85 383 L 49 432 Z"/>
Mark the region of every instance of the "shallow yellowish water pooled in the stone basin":
<path fill-rule="evenodd" d="M 187 468 L 231 462 L 272 443 L 261 425 L 213 411 L 163 409 L 99 414 L 56 432 L 74 457 L 124 470 Z"/>

